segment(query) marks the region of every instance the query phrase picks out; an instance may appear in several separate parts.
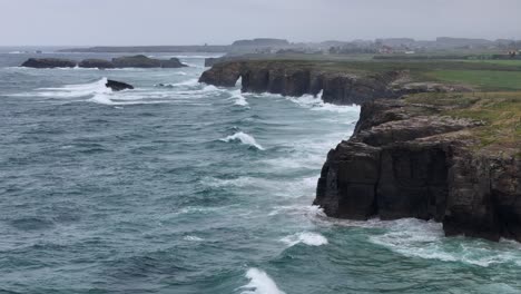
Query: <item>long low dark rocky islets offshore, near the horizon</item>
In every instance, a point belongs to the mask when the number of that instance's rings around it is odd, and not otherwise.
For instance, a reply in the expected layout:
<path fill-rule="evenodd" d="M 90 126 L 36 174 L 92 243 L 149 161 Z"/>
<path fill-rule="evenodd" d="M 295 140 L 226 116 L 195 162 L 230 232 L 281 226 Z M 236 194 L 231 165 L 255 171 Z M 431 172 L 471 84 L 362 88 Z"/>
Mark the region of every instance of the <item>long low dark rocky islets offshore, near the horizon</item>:
<path fill-rule="evenodd" d="M 68 59 L 59 58 L 29 58 L 24 61 L 22 67 L 30 68 L 181 68 L 187 65 L 179 61 L 177 58 L 170 59 L 155 59 L 144 55 L 125 56 L 112 58 L 112 60 L 105 59 L 85 59 L 79 62 Z"/>

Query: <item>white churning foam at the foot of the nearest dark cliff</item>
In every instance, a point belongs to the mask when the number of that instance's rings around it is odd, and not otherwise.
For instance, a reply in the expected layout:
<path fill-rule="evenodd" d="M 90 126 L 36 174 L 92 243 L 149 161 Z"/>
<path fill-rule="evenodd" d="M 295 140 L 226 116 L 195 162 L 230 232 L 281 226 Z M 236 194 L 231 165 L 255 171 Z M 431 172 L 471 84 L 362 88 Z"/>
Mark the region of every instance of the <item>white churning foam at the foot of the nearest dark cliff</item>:
<path fill-rule="evenodd" d="M 460 262 L 482 267 L 513 263 L 521 266 L 519 244 L 481 239 L 446 238 L 442 225 L 406 218 L 382 222 L 387 232 L 370 237 L 370 242 L 409 257 Z"/>

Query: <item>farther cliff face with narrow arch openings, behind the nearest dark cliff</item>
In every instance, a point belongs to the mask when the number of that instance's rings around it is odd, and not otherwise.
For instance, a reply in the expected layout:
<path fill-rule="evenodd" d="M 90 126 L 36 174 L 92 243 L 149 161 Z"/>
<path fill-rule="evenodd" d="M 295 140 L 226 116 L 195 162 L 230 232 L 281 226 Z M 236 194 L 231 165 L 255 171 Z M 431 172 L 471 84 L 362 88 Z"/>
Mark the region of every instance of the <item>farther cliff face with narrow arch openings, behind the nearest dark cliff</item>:
<path fill-rule="evenodd" d="M 203 72 L 200 82 L 234 87 L 242 78 L 242 91 L 272 92 L 284 96 L 318 95 L 325 102 L 362 104 L 375 98 L 397 98 L 423 91 L 464 90 L 438 84 L 402 82 L 406 71 L 380 74 L 346 74 L 324 70 L 312 63 L 291 61 L 224 61 Z"/>

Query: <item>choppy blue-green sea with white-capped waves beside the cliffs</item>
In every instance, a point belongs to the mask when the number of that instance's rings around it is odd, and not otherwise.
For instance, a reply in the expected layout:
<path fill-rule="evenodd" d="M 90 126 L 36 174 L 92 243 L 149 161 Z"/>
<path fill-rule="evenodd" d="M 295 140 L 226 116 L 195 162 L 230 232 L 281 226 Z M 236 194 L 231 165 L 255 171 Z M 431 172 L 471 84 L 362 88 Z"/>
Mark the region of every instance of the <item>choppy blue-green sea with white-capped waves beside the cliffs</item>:
<path fill-rule="evenodd" d="M 0 293 L 521 293 L 517 243 L 311 206 L 358 107 L 199 85 L 204 56 L 177 56 L 190 67 L 0 53 Z"/>

